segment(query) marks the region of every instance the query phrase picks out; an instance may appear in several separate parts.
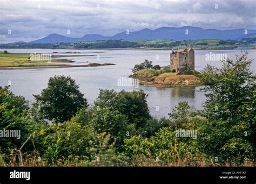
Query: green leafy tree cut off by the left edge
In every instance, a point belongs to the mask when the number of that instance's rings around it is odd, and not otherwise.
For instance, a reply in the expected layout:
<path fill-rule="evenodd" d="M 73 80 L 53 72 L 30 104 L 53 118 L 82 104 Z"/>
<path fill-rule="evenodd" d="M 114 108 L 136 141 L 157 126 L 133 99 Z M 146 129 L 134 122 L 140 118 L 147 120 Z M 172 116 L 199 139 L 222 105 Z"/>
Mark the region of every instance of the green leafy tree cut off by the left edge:
<path fill-rule="evenodd" d="M 31 124 L 28 109 L 28 101 L 24 97 L 11 93 L 8 86 L 0 87 L 0 130 L 16 131 L 16 137 L 0 136 L 1 152 L 21 147 L 28 138 L 28 126 Z"/>

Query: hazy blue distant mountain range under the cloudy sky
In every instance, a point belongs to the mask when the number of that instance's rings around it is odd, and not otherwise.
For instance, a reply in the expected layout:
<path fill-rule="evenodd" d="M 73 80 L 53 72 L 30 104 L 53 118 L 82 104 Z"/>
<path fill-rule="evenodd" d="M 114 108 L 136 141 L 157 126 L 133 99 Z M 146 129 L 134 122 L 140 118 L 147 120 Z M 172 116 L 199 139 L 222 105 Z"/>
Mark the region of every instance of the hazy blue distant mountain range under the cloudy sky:
<path fill-rule="evenodd" d="M 187 31 L 187 34 L 186 34 Z M 60 34 L 49 34 L 42 39 L 30 41 L 30 43 L 64 43 L 74 41 L 96 41 L 96 40 L 154 40 L 162 38 L 171 38 L 173 40 L 197 40 L 197 39 L 231 39 L 240 40 L 241 38 L 256 37 L 256 30 L 235 29 L 235 30 L 216 30 L 201 29 L 200 27 L 160 27 L 156 30 L 143 29 L 140 31 L 120 32 L 112 37 L 102 36 L 100 34 L 85 34 L 82 38 L 70 38 Z"/>

